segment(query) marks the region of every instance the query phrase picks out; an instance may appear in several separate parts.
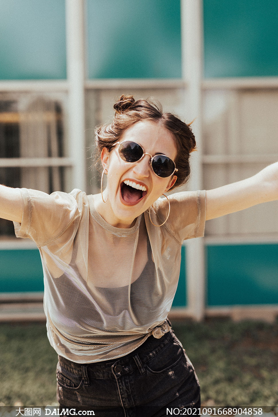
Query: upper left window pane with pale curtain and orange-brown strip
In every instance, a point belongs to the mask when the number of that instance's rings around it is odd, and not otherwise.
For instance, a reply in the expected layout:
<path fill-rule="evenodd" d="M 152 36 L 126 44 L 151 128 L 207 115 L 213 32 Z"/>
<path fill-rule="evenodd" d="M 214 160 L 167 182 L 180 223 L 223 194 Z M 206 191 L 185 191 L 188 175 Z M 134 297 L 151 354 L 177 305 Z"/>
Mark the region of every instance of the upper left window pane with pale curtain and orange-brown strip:
<path fill-rule="evenodd" d="M 37 95 L 0 98 L 0 158 L 64 156 L 63 109 Z"/>

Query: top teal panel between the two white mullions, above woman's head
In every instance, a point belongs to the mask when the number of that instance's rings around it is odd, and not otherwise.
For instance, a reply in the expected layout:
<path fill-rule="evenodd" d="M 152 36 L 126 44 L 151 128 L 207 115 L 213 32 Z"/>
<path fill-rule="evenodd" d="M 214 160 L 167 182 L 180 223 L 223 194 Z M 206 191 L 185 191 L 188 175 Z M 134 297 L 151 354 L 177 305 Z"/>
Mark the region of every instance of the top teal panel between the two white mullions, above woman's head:
<path fill-rule="evenodd" d="M 89 78 L 180 78 L 180 0 L 87 0 Z"/>

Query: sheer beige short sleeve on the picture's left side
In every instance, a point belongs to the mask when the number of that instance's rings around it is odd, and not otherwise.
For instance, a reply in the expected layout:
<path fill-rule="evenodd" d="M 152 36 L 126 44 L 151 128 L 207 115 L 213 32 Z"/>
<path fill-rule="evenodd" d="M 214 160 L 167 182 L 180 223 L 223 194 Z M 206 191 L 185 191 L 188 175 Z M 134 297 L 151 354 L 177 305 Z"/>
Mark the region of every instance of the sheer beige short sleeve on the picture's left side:
<path fill-rule="evenodd" d="M 49 195 L 42 191 L 21 188 L 20 193 L 23 199 L 23 217 L 21 223 L 14 222 L 15 235 L 32 239 L 38 247 L 55 241 L 65 230 L 80 221 L 80 190 L 75 189 L 71 193 L 57 191 Z"/>

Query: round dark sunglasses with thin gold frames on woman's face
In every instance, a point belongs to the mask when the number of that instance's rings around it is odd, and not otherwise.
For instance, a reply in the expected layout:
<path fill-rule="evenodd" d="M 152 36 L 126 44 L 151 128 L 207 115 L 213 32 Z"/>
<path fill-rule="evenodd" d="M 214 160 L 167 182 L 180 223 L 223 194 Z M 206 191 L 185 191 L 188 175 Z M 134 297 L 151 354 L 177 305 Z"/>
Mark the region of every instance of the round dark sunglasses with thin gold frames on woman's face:
<path fill-rule="evenodd" d="M 162 153 L 152 156 L 148 152 L 144 152 L 144 149 L 141 145 L 136 142 L 132 141 L 123 141 L 123 142 L 116 142 L 113 146 L 120 145 L 118 148 L 118 152 L 120 157 L 125 162 L 138 162 L 140 161 L 143 156 L 149 155 L 150 159 L 150 166 L 158 177 L 166 178 L 170 177 L 173 173 L 178 171 L 178 168 L 175 166 L 175 162 L 166 155 Z"/>

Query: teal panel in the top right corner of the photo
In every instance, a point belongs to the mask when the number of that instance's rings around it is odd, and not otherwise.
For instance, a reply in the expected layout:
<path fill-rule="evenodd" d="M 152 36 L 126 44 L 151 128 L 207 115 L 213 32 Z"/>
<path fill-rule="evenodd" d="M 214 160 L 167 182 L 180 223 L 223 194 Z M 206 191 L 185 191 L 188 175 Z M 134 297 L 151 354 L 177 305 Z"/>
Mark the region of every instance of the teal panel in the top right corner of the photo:
<path fill-rule="evenodd" d="M 204 0 L 205 77 L 278 75 L 278 1 Z"/>

